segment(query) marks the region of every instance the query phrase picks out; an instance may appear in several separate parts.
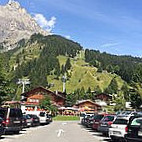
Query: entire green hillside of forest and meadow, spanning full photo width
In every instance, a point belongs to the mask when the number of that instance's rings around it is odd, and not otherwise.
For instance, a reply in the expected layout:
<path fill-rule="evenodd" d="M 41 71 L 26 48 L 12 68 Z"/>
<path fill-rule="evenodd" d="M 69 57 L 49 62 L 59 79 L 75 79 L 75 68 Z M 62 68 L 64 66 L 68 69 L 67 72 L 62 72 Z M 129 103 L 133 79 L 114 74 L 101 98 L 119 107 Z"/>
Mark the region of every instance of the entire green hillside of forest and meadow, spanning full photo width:
<path fill-rule="evenodd" d="M 58 35 L 35 34 L 29 40 L 19 41 L 16 46 L 14 50 L 0 54 L 1 88 L 6 87 L 2 100 L 21 94 L 17 84 L 19 78 L 30 79 L 26 91 L 37 86 L 62 91 L 65 76 L 70 105 L 77 100 L 93 100 L 92 92 L 117 94 L 113 98 L 116 110 L 125 107 L 126 101 L 134 99 L 134 108 L 141 101 L 141 58 L 84 51 L 78 43 Z"/>

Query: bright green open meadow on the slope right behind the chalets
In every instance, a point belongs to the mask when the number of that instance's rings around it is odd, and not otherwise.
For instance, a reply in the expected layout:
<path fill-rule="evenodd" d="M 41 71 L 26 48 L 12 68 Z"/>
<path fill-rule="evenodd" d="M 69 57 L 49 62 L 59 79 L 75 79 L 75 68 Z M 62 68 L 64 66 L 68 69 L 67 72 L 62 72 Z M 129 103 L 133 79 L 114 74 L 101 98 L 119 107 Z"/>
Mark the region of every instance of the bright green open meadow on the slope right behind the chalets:
<path fill-rule="evenodd" d="M 65 64 L 67 57 L 59 56 L 60 65 Z M 71 78 L 66 82 L 66 90 L 68 93 L 73 92 L 77 88 L 84 87 L 86 90 L 88 87 L 94 90 L 95 86 L 100 86 L 104 90 L 110 83 L 111 79 L 115 77 L 115 74 L 110 74 L 104 71 L 103 73 L 98 73 L 97 68 L 89 66 L 83 58 L 83 52 L 81 56 L 78 55 L 75 59 L 71 59 Z M 123 85 L 123 81 L 119 76 L 116 76 L 119 88 Z M 55 80 L 54 76 L 48 76 L 48 82 L 53 83 L 54 86 L 51 90 L 62 91 L 61 78 Z"/>

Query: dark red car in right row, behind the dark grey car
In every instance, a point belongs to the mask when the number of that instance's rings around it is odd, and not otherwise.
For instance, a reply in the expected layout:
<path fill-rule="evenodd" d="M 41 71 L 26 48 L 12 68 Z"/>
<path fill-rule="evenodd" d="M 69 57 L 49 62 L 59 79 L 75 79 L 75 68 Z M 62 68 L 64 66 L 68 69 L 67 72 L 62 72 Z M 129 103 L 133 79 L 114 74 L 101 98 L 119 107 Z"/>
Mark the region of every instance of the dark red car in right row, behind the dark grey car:
<path fill-rule="evenodd" d="M 93 125 L 92 128 L 94 130 L 98 130 L 98 127 L 100 125 L 100 121 L 102 120 L 102 118 L 105 116 L 106 114 L 97 114 L 94 116 L 94 121 L 93 121 Z"/>

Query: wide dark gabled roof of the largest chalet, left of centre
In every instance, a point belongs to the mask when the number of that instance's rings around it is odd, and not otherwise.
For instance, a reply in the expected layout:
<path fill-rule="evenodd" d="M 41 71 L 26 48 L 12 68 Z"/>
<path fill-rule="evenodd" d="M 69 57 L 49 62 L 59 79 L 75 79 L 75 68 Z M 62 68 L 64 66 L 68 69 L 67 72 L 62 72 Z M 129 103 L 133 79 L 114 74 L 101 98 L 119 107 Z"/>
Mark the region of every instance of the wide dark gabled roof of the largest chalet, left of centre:
<path fill-rule="evenodd" d="M 65 99 L 65 97 L 61 96 L 61 94 L 56 94 L 56 93 L 52 92 L 51 90 L 45 89 L 43 87 L 34 88 L 34 89 L 32 89 L 32 90 L 30 90 L 28 92 L 25 92 L 25 93 L 21 94 L 21 96 L 30 97 L 35 92 L 45 92 L 47 94 L 51 94 L 53 96 L 57 96 L 57 97 L 60 97 L 62 99 Z"/>

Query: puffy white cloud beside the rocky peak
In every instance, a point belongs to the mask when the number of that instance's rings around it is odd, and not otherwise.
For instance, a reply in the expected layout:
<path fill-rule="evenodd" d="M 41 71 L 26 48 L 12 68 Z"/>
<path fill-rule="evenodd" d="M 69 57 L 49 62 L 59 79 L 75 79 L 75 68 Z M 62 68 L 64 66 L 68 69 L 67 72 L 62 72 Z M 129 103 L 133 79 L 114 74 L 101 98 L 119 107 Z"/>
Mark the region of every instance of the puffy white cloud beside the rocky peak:
<path fill-rule="evenodd" d="M 50 20 L 47 20 L 44 15 L 42 14 L 34 14 L 34 19 L 36 20 L 36 22 L 39 24 L 39 26 L 41 28 L 43 28 L 46 31 L 51 32 L 52 29 L 54 28 L 55 24 L 56 24 L 56 17 L 51 17 Z"/>

